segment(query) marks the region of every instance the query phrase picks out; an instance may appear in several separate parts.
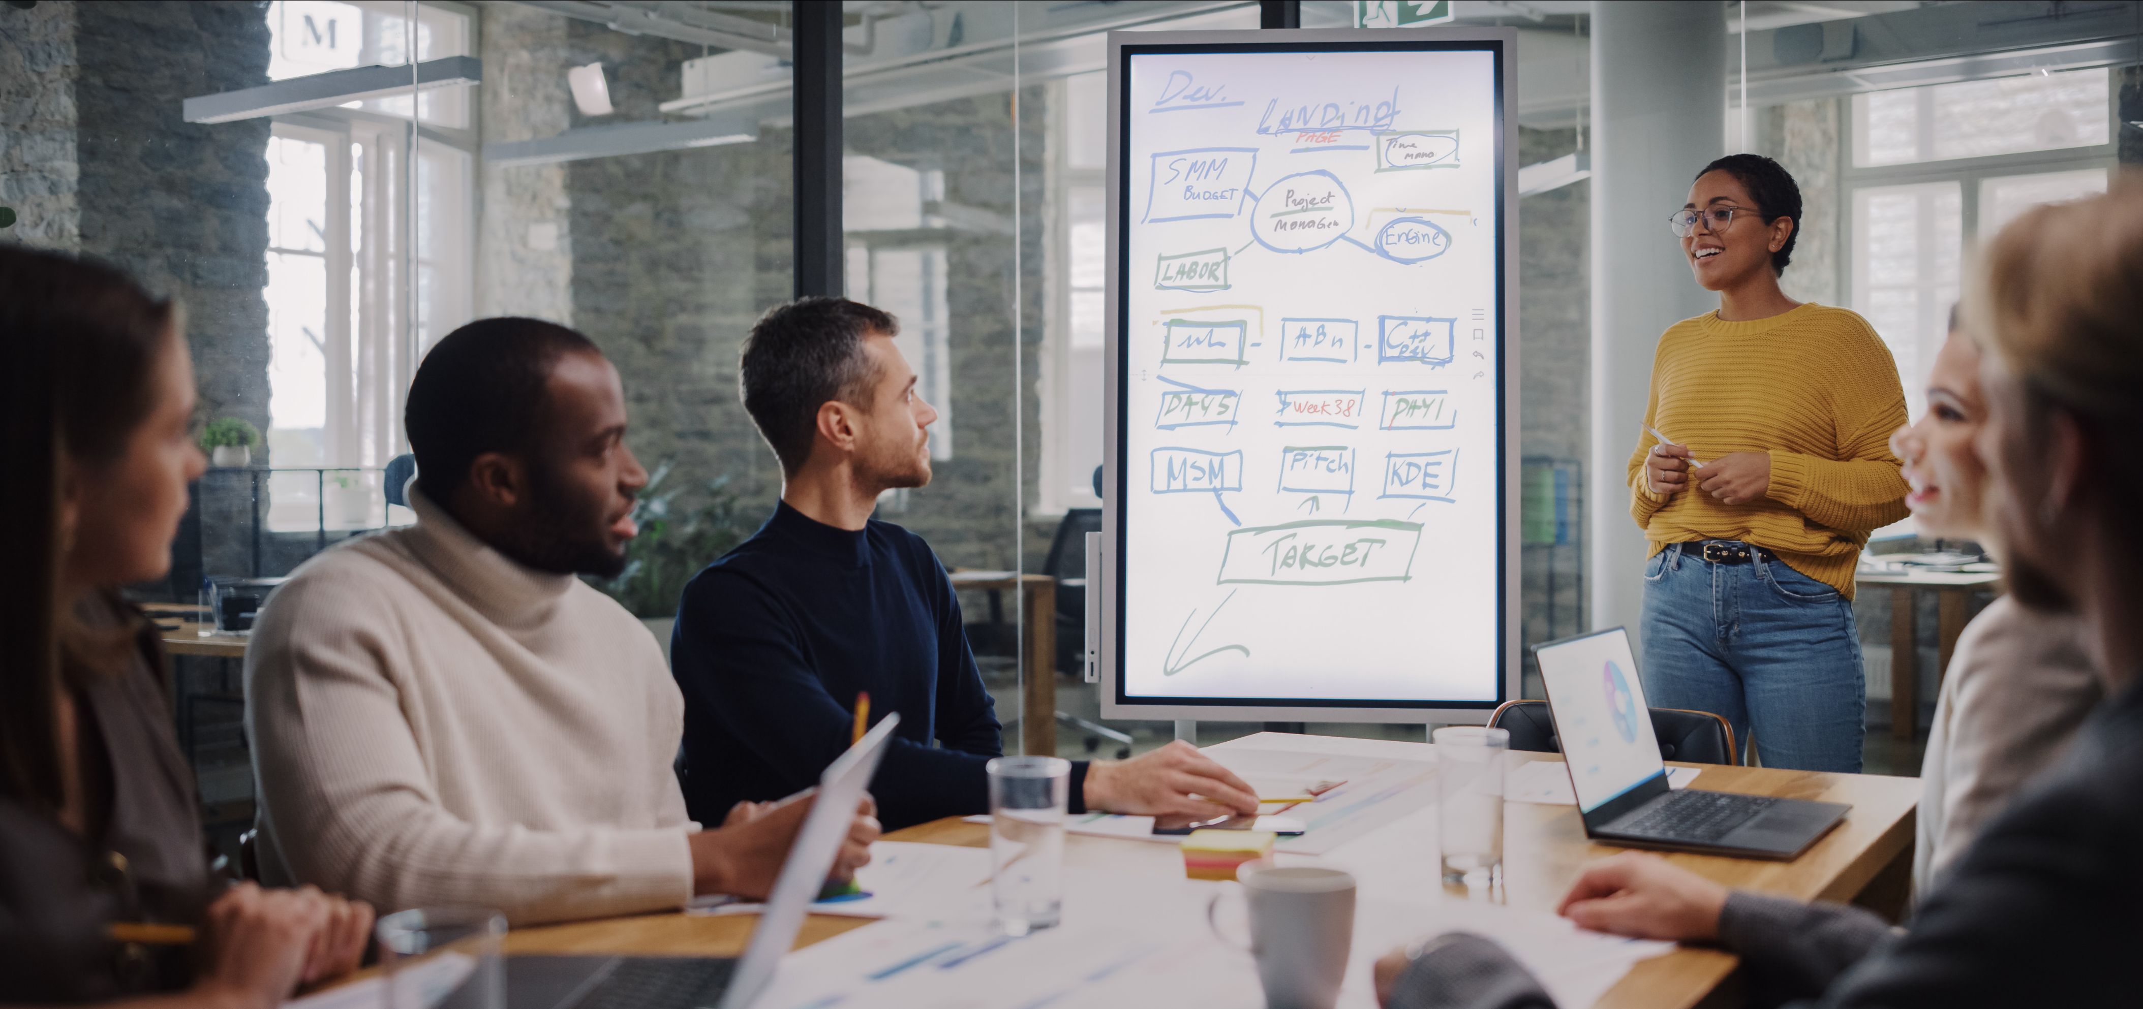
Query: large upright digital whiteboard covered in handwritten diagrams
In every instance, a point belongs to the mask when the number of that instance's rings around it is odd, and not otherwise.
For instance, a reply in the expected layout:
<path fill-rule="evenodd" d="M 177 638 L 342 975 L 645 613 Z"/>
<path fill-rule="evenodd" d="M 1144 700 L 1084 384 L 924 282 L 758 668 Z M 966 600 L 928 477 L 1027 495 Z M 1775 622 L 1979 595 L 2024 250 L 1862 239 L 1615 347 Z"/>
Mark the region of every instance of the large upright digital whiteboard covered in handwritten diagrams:
<path fill-rule="evenodd" d="M 1110 718 L 1515 696 L 1513 32 L 1110 36 Z"/>

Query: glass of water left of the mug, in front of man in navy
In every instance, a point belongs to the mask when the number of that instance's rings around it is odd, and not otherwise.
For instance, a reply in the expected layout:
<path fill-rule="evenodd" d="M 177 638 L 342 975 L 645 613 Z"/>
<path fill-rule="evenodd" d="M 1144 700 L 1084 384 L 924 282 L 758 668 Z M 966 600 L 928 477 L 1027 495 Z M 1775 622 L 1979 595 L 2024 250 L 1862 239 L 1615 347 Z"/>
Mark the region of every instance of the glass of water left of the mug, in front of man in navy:
<path fill-rule="evenodd" d="M 1072 760 L 990 760 L 990 900 L 996 928 L 1024 936 L 1054 928 L 1065 902 L 1065 801 Z"/>

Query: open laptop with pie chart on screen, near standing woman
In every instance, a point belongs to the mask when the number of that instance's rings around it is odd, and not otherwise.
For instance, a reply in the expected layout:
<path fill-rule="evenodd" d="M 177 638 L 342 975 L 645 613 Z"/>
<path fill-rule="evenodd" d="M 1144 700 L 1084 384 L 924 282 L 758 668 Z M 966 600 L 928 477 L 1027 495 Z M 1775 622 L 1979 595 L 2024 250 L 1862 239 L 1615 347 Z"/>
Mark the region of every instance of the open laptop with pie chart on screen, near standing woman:
<path fill-rule="evenodd" d="M 1792 859 L 1845 818 L 1843 803 L 1667 788 L 1637 660 L 1622 628 L 1532 647 L 1586 838 L 1631 848 Z"/>

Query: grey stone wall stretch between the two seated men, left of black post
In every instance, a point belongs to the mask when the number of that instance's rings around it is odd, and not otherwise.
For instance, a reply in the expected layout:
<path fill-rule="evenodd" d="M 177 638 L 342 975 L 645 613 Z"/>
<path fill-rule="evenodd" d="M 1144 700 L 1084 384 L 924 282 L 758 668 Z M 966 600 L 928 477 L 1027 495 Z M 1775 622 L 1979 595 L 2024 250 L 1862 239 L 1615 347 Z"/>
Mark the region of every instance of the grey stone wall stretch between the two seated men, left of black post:
<path fill-rule="evenodd" d="M 681 62 L 701 56 L 583 21 L 568 26 L 566 51 L 568 64 L 602 60 L 617 109 L 581 122 L 568 101 L 576 126 L 660 118 Z M 752 144 L 564 165 L 574 326 L 617 364 L 632 450 L 649 467 L 675 463 L 681 506 L 724 476 L 748 514 L 780 497 L 780 467 L 737 401 L 737 353 L 752 321 L 793 293 L 791 176 L 789 135 L 774 129 Z"/>

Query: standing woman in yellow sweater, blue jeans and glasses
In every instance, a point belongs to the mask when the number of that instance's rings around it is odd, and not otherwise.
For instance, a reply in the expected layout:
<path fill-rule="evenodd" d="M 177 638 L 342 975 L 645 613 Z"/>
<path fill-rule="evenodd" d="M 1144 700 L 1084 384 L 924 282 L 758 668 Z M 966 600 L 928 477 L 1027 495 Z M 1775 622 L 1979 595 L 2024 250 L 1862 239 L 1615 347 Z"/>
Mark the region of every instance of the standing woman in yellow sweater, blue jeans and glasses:
<path fill-rule="evenodd" d="M 1779 289 L 1800 186 L 1777 161 L 1706 165 L 1669 227 L 1719 311 L 1659 338 L 1629 461 L 1652 542 L 1646 694 L 1753 731 L 1766 767 L 1860 771 L 1854 568 L 1871 531 L 1905 518 L 1897 364 L 1860 315 Z"/>

